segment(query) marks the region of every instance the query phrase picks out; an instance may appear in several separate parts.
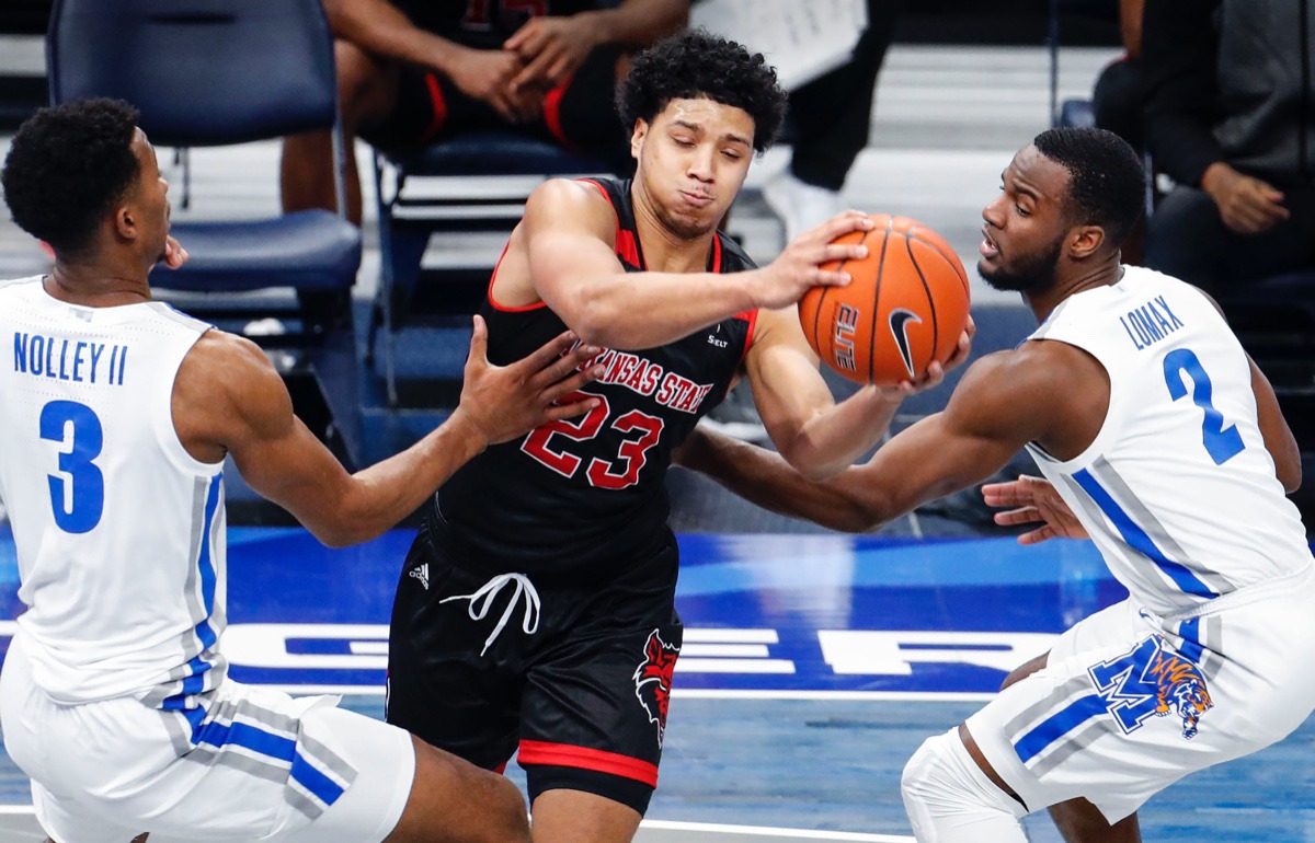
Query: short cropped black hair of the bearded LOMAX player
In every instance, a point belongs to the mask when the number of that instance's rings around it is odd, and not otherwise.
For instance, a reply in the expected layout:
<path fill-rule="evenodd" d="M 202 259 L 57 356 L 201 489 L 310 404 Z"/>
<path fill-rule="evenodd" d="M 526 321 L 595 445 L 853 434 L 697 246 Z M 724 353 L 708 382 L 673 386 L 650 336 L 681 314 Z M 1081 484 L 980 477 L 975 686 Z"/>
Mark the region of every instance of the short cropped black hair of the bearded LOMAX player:
<path fill-rule="evenodd" d="M 1141 158 L 1105 129 L 1049 129 L 1032 144 L 1068 171 L 1068 211 L 1084 225 L 1101 226 L 1110 242 L 1120 246 L 1145 207 Z"/>

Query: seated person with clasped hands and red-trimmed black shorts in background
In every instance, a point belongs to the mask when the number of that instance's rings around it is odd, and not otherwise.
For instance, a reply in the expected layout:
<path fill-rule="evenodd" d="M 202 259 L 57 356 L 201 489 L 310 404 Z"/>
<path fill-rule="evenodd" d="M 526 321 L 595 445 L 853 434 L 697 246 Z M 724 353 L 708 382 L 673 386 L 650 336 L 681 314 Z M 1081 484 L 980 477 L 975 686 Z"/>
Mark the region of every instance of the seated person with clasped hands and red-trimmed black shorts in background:
<path fill-rule="evenodd" d="M 469 129 L 522 127 L 626 160 L 613 89 L 627 53 L 682 29 L 689 0 L 325 0 L 348 148 L 419 148 Z M 348 217 L 360 177 L 347 155 Z M 327 133 L 287 138 L 283 209 L 334 207 Z"/>

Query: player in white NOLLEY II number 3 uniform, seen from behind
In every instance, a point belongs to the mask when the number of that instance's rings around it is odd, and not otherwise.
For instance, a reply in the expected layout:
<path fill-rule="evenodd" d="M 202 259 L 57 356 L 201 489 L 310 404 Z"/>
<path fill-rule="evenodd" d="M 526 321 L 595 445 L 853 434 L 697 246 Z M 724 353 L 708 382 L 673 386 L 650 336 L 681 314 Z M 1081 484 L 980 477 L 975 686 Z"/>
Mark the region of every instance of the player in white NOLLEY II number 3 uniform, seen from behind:
<path fill-rule="evenodd" d="M 331 697 L 225 678 L 222 469 L 325 544 L 366 541 L 485 446 L 590 411 L 552 400 L 592 352 L 560 357 L 563 335 L 500 369 L 476 323 L 452 416 L 348 475 L 259 348 L 151 301 L 151 268 L 187 253 L 135 119 L 113 100 L 42 110 L 3 172 L 55 252 L 51 274 L 0 281 L 0 498 L 28 605 L 0 720 L 37 819 L 58 843 L 529 840 L 505 780 Z"/>

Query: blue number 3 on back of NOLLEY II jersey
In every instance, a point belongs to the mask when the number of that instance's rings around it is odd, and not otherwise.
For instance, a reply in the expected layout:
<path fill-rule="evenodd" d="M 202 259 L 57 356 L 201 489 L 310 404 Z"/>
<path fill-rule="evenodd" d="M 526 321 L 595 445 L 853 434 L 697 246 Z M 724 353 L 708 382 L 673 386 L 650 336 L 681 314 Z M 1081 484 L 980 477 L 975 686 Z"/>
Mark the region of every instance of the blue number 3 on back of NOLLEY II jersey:
<path fill-rule="evenodd" d="M 67 448 L 59 452 L 59 474 L 46 478 L 55 524 L 66 533 L 91 532 L 105 509 L 105 475 L 92 462 L 105 444 L 100 419 L 87 404 L 53 400 L 41 408 L 41 439 Z"/>

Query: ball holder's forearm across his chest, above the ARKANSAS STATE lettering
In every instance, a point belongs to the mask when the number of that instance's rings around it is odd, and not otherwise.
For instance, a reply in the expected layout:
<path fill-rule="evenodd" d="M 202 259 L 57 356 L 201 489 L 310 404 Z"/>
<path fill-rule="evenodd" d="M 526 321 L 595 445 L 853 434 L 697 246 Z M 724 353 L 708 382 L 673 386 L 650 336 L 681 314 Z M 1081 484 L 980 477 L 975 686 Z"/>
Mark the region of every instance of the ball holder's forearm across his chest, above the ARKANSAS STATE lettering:
<path fill-rule="evenodd" d="M 615 273 L 548 302 L 581 341 L 638 351 L 665 345 L 755 307 L 750 272 Z"/>

